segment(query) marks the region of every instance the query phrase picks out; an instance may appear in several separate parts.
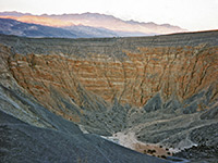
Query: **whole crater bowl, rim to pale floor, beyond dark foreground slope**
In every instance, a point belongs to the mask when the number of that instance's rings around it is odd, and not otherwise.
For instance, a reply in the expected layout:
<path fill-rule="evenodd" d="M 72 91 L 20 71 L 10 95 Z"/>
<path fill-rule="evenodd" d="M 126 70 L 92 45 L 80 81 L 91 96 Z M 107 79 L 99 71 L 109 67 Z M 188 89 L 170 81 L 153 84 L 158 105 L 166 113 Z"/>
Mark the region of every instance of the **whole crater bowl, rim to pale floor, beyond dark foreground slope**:
<path fill-rule="evenodd" d="M 214 162 L 217 37 L 218 32 L 100 39 L 0 35 L 0 110 L 66 133 L 68 126 L 56 124 L 64 118 L 83 133 L 159 158 Z"/>

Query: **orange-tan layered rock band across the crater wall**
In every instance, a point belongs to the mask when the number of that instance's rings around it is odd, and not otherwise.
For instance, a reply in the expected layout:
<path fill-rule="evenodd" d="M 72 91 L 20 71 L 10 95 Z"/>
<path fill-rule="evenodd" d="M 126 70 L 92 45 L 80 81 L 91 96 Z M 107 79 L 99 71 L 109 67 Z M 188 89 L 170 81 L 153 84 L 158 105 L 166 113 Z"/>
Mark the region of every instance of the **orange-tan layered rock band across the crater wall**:
<path fill-rule="evenodd" d="M 81 99 L 83 92 L 78 86 L 87 96 L 99 96 L 108 103 L 116 97 L 121 103 L 136 106 L 143 106 L 157 92 L 164 100 L 177 96 L 182 102 L 213 86 L 210 100 L 218 96 L 217 47 L 143 47 L 137 51 L 123 50 L 128 55 L 124 59 L 108 59 L 100 54 L 86 59 L 15 54 L 9 59 L 9 65 L 19 85 L 58 114 L 64 111 L 58 109 L 61 101 L 51 96 L 51 89 L 69 100 L 73 99 L 77 106 L 87 106 Z M 75 114 L 69 113 L 68 116 L 80 121 Z"/>

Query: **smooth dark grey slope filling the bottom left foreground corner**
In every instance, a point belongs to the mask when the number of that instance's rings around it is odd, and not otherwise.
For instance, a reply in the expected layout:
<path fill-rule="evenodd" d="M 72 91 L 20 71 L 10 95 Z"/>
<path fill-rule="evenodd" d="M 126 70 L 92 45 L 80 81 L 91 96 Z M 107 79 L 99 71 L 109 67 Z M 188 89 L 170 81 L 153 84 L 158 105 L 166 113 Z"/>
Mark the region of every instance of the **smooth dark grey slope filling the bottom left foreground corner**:
<path fill-rule="evenodd" d="M 38 128 L 0 112 L 0 162 L 167 163 L 95 135 Z"/>

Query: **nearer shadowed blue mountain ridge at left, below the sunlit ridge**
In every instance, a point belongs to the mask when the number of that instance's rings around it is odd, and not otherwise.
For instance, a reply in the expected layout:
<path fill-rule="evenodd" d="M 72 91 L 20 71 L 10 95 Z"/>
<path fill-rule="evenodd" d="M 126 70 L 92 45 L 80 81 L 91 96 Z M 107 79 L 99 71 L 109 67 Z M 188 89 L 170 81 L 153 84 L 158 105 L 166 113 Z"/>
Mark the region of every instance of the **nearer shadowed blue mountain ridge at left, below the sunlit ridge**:
<path fill-rule="evenodd" d="M 92 37 L 118 37 L 113 33 L 104 28 L 88 26 L 71 26 L 65 28 L 23 23 L 11 18 L 0 18 L 0 33 L 7 35 L 17 35 L 24 37 L 56 37 L 56 38 L 92 38 Z"/>

